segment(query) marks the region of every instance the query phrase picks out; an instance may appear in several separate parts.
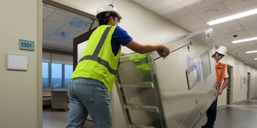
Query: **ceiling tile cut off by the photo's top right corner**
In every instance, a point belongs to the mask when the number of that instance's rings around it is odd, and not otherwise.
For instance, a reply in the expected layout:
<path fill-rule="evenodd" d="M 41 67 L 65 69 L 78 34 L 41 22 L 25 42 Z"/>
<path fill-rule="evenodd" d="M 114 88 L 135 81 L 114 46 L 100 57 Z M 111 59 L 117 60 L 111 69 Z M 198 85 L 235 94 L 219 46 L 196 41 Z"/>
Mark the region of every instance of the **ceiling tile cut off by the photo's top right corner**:
<path fill-rule="evenodd" d="M 228 1 L 224 1 L 223 3 L 228 7 L 230 11 L 257 3 L 256 0 L 247 0 L 246 2 L 241 2 L 241 1 L 242 0 L 228 0 Z"/>

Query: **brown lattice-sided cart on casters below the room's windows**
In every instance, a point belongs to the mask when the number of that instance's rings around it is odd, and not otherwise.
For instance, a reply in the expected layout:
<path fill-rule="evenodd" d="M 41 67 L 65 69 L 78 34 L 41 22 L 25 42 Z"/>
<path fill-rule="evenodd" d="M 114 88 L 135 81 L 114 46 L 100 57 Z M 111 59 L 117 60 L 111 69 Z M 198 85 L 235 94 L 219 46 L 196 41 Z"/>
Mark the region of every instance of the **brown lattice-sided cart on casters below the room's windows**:
<path fill-rule="evenodd" d="M 51 111 L 55 108 L 64 109 L 66 112 L 69 108 L 70 98 L 67 91 L 52 91 L 51 92 Z"/>

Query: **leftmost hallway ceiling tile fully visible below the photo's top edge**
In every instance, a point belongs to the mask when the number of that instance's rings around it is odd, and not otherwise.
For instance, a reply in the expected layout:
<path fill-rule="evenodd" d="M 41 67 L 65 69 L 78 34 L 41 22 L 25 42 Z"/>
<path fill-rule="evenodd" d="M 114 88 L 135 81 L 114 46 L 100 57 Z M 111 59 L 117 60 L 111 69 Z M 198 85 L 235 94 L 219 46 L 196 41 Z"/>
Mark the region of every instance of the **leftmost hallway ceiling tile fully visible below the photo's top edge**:
<path fill-rule="evenodd" d="M 166 9 L 163 9 L 161 11 L 158 11 L 156 13 L 166 19 L 172 19 L 184 14 L 190 13 L 190 11 L 186 7 L 180 4 L 176 4 Z"/>

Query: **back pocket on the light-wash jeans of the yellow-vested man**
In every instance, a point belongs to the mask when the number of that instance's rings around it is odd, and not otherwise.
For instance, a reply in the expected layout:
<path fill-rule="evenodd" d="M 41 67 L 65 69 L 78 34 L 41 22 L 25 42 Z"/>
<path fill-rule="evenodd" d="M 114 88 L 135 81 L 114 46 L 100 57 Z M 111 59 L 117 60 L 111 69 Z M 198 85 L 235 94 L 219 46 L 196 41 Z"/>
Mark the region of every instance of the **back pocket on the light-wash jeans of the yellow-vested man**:
<path fill-rule="evenodd" d="M 77 94 L 90 95 L 95 92 L 95 84 L 89 83 L 75 83 Z"/>

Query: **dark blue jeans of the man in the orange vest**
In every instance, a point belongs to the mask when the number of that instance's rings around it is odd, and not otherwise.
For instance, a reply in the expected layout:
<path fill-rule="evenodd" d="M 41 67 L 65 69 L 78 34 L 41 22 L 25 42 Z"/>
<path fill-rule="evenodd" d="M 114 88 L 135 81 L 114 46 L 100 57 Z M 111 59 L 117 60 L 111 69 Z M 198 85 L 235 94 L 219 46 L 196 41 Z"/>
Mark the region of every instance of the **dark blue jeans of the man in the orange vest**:
<path fill-rule="evenodd" d="M 217 102 L 218 102 L 218 96 L 216 98 L 216 101 L 212 103 L 212 105 L 208 108 L 206 111 L 207 114 L 207 123 L 212 123 L 214 125 L 214 122 L 216 120 L 217 115 Z"/>

